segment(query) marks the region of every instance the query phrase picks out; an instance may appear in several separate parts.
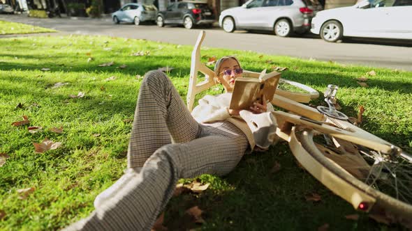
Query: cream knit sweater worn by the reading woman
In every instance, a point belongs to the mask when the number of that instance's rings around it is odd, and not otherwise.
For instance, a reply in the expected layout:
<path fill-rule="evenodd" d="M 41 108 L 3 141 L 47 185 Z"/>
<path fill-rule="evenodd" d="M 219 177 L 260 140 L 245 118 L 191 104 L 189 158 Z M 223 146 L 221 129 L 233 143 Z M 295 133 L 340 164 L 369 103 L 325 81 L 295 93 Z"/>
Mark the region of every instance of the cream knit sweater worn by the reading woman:
<path fill-rule="evenodd" d="M 199 104 L 192 111 L 192 116 L 200 123 L 211 123 L 226 120 L 233 123 L 247 136 L 251 149 L 255 148 L 256 141 L 247 122 L 240 116 L 230 116 L 229 105 L 232 93 L 221 95 L 205 95 L 199 99 Z M 274 111 L 272 104 L 267 104 L 267 111 Z M 258 141 L 258 143 L 260 143 Z"/>

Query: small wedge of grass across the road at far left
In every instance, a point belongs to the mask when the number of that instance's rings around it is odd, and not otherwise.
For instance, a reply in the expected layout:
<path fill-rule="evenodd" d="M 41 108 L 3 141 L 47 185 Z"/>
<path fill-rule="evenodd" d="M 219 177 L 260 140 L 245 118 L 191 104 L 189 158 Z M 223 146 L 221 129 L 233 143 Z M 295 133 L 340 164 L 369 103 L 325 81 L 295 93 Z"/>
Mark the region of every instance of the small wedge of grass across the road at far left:
<path fill-rule="evenodd" d="M 0 35 L 20 34 L 20 33 L 49 33 L 57 32 L 52 29 L 46 29 L 39 26 L 22 24 L 17 22 L 6 22 L 0 20 Z"/>

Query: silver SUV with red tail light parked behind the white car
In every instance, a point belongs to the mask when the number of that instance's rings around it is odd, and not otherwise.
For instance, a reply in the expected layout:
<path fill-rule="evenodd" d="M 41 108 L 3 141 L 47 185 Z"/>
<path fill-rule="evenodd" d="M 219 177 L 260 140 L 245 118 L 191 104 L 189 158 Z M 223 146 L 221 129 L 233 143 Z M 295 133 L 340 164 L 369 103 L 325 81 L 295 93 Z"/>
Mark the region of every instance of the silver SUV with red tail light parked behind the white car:
<path fill-rule="evenodd" d="M 321 9 L 321 4 L 311 0 L 251 0 L 223 10 L 219 25 L 226 32 L 254 29 L 288 37 L 293 32 L 309 31 L 312 17 Z"/>

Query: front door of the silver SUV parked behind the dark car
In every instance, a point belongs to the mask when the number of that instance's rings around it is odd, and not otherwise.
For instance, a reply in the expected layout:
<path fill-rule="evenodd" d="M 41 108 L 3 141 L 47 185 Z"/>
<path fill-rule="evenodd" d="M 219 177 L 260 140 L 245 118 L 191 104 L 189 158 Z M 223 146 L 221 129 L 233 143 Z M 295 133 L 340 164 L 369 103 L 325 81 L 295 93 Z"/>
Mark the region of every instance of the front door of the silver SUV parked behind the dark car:
<path fill-rule="evenodd" d="M 246 8 L 240 8 L 236 12 L 237 26 L 244 29 L 254 29 L 260 21 L 260 10 L 264 0 L 254 0 L 247 4 Z"/>

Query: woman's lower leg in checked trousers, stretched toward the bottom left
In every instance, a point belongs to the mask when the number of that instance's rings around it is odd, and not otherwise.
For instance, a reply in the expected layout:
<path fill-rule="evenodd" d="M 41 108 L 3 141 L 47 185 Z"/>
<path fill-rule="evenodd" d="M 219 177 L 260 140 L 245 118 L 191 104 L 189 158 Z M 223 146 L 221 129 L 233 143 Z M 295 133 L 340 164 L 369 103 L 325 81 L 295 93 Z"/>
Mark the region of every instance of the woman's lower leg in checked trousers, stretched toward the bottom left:
<path fill-rule="evenodd" d="M 113 198 L 66 230 L 150 230 L 179 178 L 203 173 L 224 175 L 242 159 L 247 138 L 234 125 L 222 126 L 217 132 L 205 129 L 200 134 L 204 137 L 189 143 L 159 148 L 139 173 L 129 171 L 124 175 L 128 181 Z"/>

